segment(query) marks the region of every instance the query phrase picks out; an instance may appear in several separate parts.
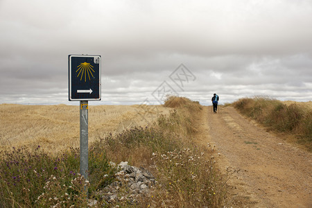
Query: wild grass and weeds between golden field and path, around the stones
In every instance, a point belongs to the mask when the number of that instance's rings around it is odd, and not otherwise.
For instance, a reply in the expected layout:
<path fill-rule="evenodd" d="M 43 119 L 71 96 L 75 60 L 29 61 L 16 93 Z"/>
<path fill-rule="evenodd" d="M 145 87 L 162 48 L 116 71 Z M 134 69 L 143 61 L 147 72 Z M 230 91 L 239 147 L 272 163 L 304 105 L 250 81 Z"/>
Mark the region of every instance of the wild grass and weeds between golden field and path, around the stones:
<path fill-rule="evenodd" d="M 226 180 L 209 148 L 193 142 L 201 106 L 177 97 L 169 97 L 164 106 L 171 107 L 170 114 L 160 114 L 155 123 L 94 141 L 88 180 L 79 174 L 78 148 L 57 155 L 42 146 L 2 150 L 0 207 L 87 207 L 90 199 L 98 207 L 222 207 Z M 157 183 L 135 203 L 126 198 L 108 203 L 99 193 L 116 180 L 112 162 L 125 161 L 148 169 Z"/>

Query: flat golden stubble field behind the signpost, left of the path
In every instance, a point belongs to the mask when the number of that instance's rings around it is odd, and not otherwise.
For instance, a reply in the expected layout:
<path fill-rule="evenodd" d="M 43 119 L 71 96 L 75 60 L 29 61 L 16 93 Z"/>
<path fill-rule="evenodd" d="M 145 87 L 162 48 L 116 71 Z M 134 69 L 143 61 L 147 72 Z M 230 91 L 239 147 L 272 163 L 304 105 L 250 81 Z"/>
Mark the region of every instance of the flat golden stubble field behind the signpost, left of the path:
<path fill-rule="evenodd" d="M 168 109 L 151 105 L 89 105 L 89 143 L 110 132 L 148 125 Z M 0 105 L 0 145 L 42 146 L 57 153 L 79 146 L 79 107 L 70 105 Z"/>

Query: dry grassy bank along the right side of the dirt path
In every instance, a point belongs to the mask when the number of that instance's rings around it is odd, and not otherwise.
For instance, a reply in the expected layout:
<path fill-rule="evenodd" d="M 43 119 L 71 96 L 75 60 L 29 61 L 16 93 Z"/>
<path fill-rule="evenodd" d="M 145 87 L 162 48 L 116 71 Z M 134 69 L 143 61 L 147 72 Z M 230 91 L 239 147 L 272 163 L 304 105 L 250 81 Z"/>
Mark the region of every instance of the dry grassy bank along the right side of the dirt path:
<path fill-rule="evenodd" d="M 241 114 L 264 125 L 268 130 L 284 133 L 285 139 L 312 150 L 312 110 L 304 105 L 270 98 L 241 98 L 232 104 Z"/>

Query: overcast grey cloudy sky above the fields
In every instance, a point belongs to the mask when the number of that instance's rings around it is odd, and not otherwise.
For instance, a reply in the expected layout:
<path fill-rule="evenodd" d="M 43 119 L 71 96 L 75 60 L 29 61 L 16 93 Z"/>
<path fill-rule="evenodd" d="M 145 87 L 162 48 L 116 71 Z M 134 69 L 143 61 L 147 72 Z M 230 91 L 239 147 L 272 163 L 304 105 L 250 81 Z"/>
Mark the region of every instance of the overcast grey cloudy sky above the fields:
<path fill-rule="evenodd" d="M 0 0 L 0 103 L 68 101 L 68 55 L 102 57 L 102 101 L 312 101 L 312 1 Z"/>

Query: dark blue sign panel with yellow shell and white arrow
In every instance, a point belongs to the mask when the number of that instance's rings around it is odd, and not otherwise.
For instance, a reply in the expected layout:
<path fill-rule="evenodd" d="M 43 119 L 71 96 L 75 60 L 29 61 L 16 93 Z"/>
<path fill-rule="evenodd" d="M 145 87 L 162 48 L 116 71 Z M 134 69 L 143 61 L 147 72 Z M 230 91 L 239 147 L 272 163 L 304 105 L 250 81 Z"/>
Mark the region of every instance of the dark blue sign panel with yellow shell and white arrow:
<path fill-rule="evenodd" d="M 101 101 L 101 55 L 69 55 L 69 101 Z"/>

